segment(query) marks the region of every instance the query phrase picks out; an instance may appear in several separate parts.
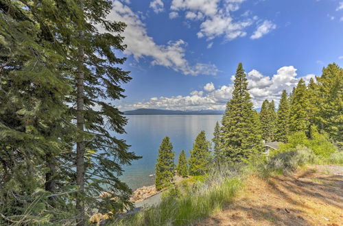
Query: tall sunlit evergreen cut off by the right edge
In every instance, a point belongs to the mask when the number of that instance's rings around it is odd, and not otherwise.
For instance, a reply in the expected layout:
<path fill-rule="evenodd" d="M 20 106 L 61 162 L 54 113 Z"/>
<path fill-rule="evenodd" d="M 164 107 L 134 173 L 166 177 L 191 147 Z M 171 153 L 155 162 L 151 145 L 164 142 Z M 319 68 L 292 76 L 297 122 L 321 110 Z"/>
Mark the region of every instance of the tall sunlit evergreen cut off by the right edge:
<path fill-rule="evenodd" d="M 343 68 L 329 64 L 318 81 L 318 128 L 343 146 Z"/>

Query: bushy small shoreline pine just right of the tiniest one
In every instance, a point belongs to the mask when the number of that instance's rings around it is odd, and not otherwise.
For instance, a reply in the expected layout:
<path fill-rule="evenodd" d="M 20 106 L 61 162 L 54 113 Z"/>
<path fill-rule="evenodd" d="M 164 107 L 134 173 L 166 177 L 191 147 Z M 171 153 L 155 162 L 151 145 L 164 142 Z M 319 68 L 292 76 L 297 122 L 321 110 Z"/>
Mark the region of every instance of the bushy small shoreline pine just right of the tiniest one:
<path fill-rule="evenodd" d="M 200 131 L 196 137 L 196 142 L 191 150 L 191 158 L 189 158 L 189 174 L 204 175 L 209 168 L 211 160 L 210 142 L 206 140 L 205 131 Z"/>

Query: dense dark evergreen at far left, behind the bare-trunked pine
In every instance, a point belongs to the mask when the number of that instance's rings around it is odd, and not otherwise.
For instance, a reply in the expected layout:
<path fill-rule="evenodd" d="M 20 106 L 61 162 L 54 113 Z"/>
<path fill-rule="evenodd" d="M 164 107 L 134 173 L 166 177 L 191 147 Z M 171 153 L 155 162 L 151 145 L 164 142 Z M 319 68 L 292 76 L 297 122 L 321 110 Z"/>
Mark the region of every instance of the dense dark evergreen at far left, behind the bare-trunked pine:
<path fill-rule="evenodd" d="M 45 14 L 46 1 L 27 5 L 0 4 L 0 212 L 39 224 L 73 217 L 68 201 L 52 195 L 68 189 L 71 177 L 58 174 L 66 166 L 58 157 L 72 154 L 75 130 L 65 114 L 71 85 L 60 66 L 66 58 L 51 32 L 59 24 Z"/>

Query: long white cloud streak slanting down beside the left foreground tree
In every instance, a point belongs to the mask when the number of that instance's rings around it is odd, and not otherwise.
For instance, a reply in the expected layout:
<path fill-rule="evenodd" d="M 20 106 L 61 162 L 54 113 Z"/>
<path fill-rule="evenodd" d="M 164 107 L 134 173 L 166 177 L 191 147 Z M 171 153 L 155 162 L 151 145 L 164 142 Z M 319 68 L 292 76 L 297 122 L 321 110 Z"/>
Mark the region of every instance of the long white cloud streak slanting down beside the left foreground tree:
<path fill-rule="evenodd" d="M 152 65 L 165 66 L 184 75 L 216 75 L 218 72 L 214 64 L 190 65 L 185 59 L 187 43 L 183 40 L 169 41 L 167 45 L 157 45 L 147 34 L 145 24 L 139 16 L 118 0 L 113 2 L 113 10 L 108 15 L 108 20 L 123 21 L 128 25 L 123 32 L 125 37 L 123 42 L 128 45 L 125 53 L 132 54 L 135 60 L 150 57 Z"/>

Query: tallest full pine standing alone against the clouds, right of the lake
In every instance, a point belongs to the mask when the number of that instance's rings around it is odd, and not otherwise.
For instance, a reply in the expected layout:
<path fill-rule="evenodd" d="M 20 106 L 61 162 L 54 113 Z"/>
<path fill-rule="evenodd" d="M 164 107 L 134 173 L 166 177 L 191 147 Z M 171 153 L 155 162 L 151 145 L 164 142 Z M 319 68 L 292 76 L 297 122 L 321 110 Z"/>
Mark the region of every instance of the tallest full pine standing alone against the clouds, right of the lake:
<path fill-rule="evenodd" d="M 261 134 L 255 128 L 259 123 L 248 92 L 246 73 L 241 63 L 237 67 L 233 97 L 226 104 L 222 118 L 223 150 L 231 161 L 248 158 L 254 152 L 261 152 Z"/>

